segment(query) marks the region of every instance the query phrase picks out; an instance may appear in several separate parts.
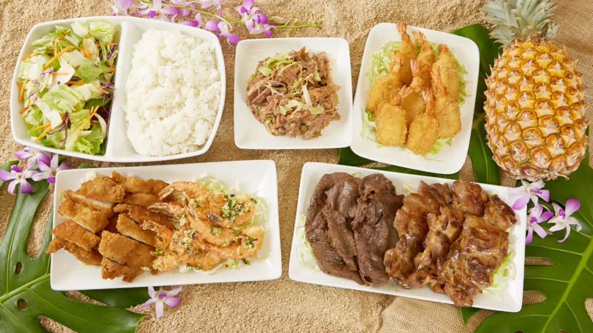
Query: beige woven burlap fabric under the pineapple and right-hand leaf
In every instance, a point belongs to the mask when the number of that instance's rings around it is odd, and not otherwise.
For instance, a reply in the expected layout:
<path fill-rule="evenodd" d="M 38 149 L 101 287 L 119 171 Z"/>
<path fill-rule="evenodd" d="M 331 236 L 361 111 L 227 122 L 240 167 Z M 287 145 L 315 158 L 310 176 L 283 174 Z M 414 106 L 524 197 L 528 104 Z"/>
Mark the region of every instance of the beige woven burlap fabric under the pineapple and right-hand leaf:
<path fill-rule="evenodd" d="M 558 4 L 554 21 L 559 24 L 557 44 L 565 45 L 570 56 L 578 59 L 577 67 L 583 74 L 582 79 L 586 87 L 593 87 L 593 1 L 562 0 Z M 593 119 L 593 94 L 585 92 L 585 101 L 589 108 L 586 111 L 589 120 Z M 589 138 L 591 143 L 591 138 Z M 593 159 L 589 165 L 593 166 Z M 466 163 L 464 171 L 470 166 Z M 463 178 L 466 172 L 463 172 Z M 501 185 L 514 184 L 508 175 L 501 174 Z M 526 264 L 549 264 L 549 260 L 541 258 L 525 258 Z M 593 295 L 591 295 L 593 297 Z M 524 304 L 543 302 L 541 293 L 524 293 Z M 589 316 L 593 318 L 593 298 L 585 304 Z M 476 313 L 467 327 L 461 322 L 459 309 L 452 305 L 410 300 L 396 297 L 393 303 L 382 313 L 383 324 L 381 332 L 473 332 L 474 329 L 490 315 L 491 311 L 480 310 Z M 593 319 L 592 319 L 593 320 Z"/>

